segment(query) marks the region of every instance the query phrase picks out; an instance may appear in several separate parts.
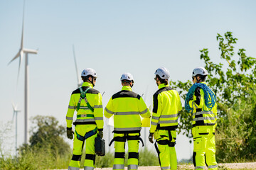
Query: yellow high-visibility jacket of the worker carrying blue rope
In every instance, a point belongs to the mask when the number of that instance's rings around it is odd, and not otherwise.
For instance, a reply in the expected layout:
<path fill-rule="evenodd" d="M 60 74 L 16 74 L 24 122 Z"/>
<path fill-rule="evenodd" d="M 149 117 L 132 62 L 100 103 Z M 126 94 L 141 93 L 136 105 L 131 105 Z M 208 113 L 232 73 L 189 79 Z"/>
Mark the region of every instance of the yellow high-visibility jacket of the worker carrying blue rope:
<path fill-rule="evenodd" d="M 206 84 L 206 82 L 202 82 L 202 84 Z M 189 106 L 193 108 L 193 127 L 197 125 L 215 125 L 217 120 L 217 103 L 215 103 L 215 106 L 210 111 L 205 104 L 203 89 L 200 87 L 196 88 L 193 99 L 189 101 Z"/>

